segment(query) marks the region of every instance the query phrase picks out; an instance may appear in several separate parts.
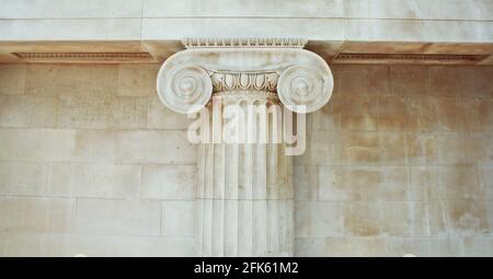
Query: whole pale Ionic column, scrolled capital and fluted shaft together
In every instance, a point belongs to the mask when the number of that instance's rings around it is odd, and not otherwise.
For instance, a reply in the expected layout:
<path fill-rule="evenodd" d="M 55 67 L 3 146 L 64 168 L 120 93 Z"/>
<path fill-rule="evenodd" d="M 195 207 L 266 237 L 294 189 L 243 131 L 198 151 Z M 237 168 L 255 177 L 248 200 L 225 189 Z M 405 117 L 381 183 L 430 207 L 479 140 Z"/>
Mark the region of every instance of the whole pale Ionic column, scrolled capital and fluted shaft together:
<path fill-rule="evenodd" d="M 158 93 L 171 109 L 200 115 L 194 126 L 202 142 L 199 255 L 293 256 L 290 154 L 299 153 L 288 152 L 293 142 L 286 143 L 286 116 L 317 111 L 329 101 L 329 67 L 301 49 L 299 39 L 205 39 L 185 45 L 187 50 L 162 66 Z M 262 109 L 265 117 L 259 114 Z"/>

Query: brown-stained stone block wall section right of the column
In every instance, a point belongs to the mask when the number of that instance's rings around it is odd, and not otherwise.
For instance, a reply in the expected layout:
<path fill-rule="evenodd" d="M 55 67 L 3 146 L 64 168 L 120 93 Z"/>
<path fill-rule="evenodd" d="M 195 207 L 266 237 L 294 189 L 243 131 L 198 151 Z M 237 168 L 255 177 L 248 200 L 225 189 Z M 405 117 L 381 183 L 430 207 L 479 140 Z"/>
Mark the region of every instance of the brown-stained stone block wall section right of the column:
<path fill-rule="evenodd" d="M 296 254 L 493 255 L 493 68 L 334 75 L 295 161 Z"/>

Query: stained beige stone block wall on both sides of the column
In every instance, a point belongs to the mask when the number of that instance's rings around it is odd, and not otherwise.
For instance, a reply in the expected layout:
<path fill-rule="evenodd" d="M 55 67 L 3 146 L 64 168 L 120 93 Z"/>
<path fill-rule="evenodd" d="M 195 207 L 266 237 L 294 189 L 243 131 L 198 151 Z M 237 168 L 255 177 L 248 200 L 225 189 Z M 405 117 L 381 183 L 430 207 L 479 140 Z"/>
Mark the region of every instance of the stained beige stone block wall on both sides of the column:
<path fill-rule="evenodd" d="M 196 255 L 156 65 L 0 66 L 1 256 Z M 336 66 L 295 160 L 299 256 L 493 255 L 493 68 Z"/>

